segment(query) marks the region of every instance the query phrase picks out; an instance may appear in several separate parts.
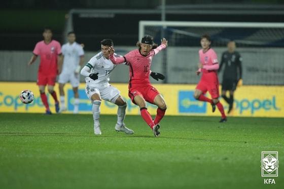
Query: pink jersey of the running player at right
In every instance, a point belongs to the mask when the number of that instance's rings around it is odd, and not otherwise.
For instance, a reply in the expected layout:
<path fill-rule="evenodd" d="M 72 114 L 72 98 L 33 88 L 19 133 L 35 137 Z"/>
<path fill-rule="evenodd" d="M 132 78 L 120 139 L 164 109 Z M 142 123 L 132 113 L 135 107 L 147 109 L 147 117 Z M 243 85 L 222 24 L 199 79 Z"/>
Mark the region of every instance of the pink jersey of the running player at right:
<path fill-rule="evenodd" d="M 205 53 L 203 53 L 203 49 L 200 49 L 199 62 L 203 65 L 201 80 L 218 79 L 217 70 L 219 69 L 219 64 L 217 54 L 213 49 L 208 49 Z"/>

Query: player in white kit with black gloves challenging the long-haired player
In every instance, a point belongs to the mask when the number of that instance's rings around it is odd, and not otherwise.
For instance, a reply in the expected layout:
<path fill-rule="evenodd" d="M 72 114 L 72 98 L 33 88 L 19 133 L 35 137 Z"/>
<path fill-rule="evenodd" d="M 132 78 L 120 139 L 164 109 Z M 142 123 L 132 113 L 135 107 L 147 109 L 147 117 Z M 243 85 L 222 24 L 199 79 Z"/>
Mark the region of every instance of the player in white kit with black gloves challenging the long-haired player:
<path fill-rule="evenodd" d="M 94 133 L 100 135 L 100 104 L 101 99 L 107 100 L 118 105 L 117 110 L 117 124 L 116 131 L 122 131 L 126 134 L 133 134 L 131 129 L 125 127 L 125 109 L 126 102 L 120 95 L 120 91 L 109 84 L 110 73 L 114 70 L 116 65 L 109 60 L 109 48 L 112 47 L 113 41 L 110 39 L 102 40 L 101 52 L 92 57 L 89 62 L 81 70 L 81 74 L 85 76 L 86 80 L 86 95 L 93 103 L 93 119 L 94 119 Z M 114 56 L 119 55 L 115 54 Z"/>

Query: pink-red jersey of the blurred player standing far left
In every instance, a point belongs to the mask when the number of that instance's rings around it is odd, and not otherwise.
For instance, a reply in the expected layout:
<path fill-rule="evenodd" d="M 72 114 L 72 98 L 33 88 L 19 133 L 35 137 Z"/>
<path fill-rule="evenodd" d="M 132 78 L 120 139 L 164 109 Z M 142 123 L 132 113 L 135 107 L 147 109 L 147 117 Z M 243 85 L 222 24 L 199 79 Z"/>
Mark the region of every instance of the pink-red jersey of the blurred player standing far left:
<path fill-rule="evenodd" d="M 41 41 L 35 45 L 33 54 L 41 57 L 39 73 L 45 75 L 57 74 L 57 55 L 61 54 L 59 42 L 52 40 L 49 44 Z"/>

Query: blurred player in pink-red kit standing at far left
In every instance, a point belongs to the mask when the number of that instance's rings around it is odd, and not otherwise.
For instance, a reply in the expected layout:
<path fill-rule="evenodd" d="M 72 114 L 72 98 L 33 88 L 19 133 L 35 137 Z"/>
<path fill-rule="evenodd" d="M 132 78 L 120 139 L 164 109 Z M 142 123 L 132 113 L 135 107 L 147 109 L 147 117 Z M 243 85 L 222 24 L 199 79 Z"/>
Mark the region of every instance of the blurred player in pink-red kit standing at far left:
<path fill-rule="evenodd" d="M 56 75 L 61 72 L 62 67 L 62 53 L 59 42 L 52 40 L 52 30 L 45 28 L 43 32 L 44 41 L 38 42 L 33 50 L 33 55 L 28 62 L 31 65 L 38 56 L 41 57 L 41 62 L 38 72 L 38 86 L 41 93 L 41 99 L 46 108 L 46 114 L 51 115 L 49 109 L 47 96 L 45 94 L 45 87 L 47 85 L 48 92 L 55 100 L 55 111 L 59 111 L 59 102 L 57 100 L 56 92 L 54 91 L 54 85 Z"/>

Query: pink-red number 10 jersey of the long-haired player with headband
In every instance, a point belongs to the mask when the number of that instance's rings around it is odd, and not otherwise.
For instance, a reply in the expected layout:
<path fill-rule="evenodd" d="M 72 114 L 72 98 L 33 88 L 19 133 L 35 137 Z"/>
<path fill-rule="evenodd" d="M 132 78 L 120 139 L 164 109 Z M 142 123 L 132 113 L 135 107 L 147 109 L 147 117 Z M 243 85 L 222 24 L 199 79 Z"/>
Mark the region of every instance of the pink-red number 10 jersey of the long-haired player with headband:
<path fill-rule="evenodd" d="M 129 88 L 137 85 L 144 86 L 150 84 L 149 74 L 153 56 L 165 48 L 166 45 L 162 44 L 156 49 L 151 50 L 147 56 L 141 55 L 139 49 L 136 49 L 130 51 L 123 57 L 115 57 L 114 55 L 111 55 L 109 58 L 114 64 L 126 62 L 126 65 L 129 65 Z"/>

